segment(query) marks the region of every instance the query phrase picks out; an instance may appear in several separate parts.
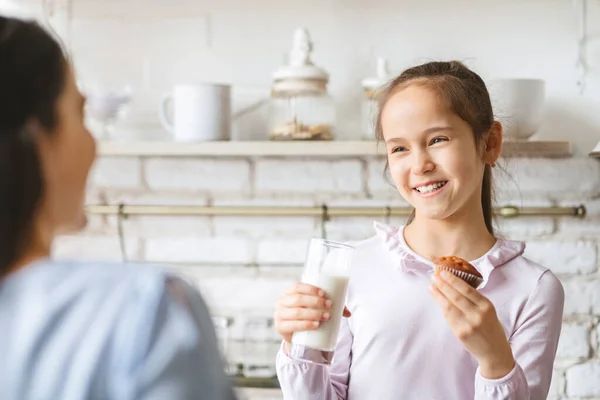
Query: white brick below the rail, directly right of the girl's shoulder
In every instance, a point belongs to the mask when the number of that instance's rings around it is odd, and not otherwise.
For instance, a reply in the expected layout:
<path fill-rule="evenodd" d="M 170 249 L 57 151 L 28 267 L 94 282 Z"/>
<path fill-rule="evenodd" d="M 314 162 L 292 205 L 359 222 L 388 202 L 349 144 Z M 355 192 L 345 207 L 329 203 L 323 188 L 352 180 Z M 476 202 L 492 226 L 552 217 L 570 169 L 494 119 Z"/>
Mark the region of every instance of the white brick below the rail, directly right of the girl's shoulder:
<path fill-rule="evenodd" d="M 557 274 L 588 274 L 596 271 L 596 245 L 589 242 L 527 242 L 525 255 Z"/>

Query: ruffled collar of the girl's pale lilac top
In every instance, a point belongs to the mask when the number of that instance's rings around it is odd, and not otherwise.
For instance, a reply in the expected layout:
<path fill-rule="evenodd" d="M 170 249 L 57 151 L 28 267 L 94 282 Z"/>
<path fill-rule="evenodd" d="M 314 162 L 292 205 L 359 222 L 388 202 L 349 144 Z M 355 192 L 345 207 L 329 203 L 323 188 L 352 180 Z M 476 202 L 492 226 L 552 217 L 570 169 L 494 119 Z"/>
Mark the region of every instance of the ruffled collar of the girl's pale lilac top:
<path fill-rule="evenodd" d="M 374 227 L 377 236 L 392 257 L 394 268 L 417 275 L 431 275 L 433 273 L 433 263 L 412 251 L 406 244 L 403 226 L 394 227 L 375 222 Z M 478 289 L 485 287 L 490 274 L 495 268 L 522 255 L 524 250 L 524 242 L 498 239 L 487 253 L 476 260 L 469 261 L 483 276 L 483 283 Z"/>

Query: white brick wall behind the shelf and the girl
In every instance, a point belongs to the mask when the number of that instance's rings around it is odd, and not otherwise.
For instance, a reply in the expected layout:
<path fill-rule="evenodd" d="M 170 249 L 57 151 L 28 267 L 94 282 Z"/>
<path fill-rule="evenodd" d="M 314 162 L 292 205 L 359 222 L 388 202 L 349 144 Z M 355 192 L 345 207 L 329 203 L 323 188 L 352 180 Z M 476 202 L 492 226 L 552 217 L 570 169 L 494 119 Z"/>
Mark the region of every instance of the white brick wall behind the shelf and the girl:
<path fill-rule="evenodd" d="M 577 91 L 577 26 L 571 4 L 83 0 L 73 2 L 68 42 L 83 82 L 133 84 L 131 112 L 117 127 L 123 136 L 164 137 L 156 110 L 175 83 L 232 83 L 234 110 L 268 96 L 272 72 L 289 49 L 293 29 L 307 26 L 315 62 L 331 73 L 329 89 L 342 139 L 360 135 L 360 79 L 372 73 L 375 56 L 388 57 L 394 72 L 416 62 L 456 58 L 466 60 L 484 79 L 546 79 L 548 113 L 536 138 L 571 139 L 576 154 L 585 155 L 600 140 L 600 79 L 589 74 L 585 93 Z M 588 20 L 597 20 L 600 4 L 587 4 Z M 65 10 L 57 9 L 55 23 L 64 23 Z M 428 26 L 444 34 L 434 34 Z M 66 32 L 65 26 L 57 28 Z M 600 32 L 590 24 L 588 33 Z M 264 138 L 265 115 L 262 108 L 234 121 L 234 137 Z M 528 240 L 528 256 L 552 268 L 565 285 L 566 325 L 550 398 L 600 398 L 600 164 L 576 157 L 508 160 L 503 166 L 508 174 L 496 172 L 501 204 L 584 202 L 588 207 L 585 220 L 526 217 L 499 220 L 498 227 L 500 233 Z M 88 201 L 402 205 L 382 173 L 382 160 L 373 157 L 105 158 L 94 167 Z M 333 218 L 325 228 L 331 238 L 353 240 L 369 235 L 370 223 L 369 218 Z M 236 315 L 253 309 L 269 316 L 274 299 L 298 276 L 306 240 L 320 234 L 321 224 L 318 218 L 135 217 L 124 228 L 129 258 L 176 263 L 178 271 L 202 287 L 215 312 Z M 61 238 L 55 252 L 59 257 L 120 259 L 115 219 L 94 218 L 84 234 Z"/>

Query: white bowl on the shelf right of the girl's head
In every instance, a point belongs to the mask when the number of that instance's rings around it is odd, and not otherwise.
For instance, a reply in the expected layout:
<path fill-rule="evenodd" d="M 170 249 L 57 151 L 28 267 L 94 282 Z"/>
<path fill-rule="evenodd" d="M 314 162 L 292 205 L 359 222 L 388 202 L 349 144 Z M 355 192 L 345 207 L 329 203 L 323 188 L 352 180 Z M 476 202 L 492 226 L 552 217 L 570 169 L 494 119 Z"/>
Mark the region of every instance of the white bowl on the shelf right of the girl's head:
<path fill-rule="evenodd" d="M 494 79 L 489 81 L 488 90 L 505 139 L 526 140 L 537 132 L 544 119 L 543 79 Z"/>

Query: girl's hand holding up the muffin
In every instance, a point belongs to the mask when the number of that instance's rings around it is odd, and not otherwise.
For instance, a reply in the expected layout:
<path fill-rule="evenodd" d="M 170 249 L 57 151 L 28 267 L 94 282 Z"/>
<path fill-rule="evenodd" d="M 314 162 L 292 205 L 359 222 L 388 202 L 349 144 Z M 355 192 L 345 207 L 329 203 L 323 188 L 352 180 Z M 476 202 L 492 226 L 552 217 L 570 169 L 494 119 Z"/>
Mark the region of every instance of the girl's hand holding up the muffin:
<path fill-rule="evenodd" d="M 494 305 L 451 273 L 443 271 L 431 280 L 430 293 L 454 335 L 477 359 L 480 374 L 499 379 L 512 371 L 515 359 Z"/>

